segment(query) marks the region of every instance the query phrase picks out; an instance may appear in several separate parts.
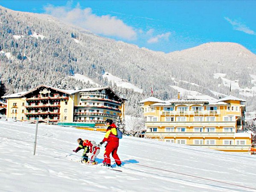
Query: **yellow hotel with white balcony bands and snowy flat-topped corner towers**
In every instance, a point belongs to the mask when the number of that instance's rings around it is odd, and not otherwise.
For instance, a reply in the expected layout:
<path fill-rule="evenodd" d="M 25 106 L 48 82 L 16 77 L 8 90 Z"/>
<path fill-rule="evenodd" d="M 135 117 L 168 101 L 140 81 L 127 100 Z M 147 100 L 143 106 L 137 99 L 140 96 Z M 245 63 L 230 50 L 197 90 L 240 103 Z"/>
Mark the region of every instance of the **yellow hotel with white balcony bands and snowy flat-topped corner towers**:
<path fill-rule="evenodd" d="M 251 134 L 243 132 L 245 100 L 234 96 L 214 99 L 162 101 L 149 97 L 144 104 L 146 137 L 165 142 L 196 145 L 220 151 L 247 152 Z"/>

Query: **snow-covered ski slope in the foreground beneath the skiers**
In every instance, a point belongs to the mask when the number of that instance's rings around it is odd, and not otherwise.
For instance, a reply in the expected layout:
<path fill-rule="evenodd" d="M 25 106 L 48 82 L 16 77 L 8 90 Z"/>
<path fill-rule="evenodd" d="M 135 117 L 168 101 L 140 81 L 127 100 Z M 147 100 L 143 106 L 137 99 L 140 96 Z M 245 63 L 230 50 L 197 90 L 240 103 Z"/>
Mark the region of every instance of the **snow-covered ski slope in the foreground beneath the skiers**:
<path fill-rule="evenodd" d="M 256 156 L 124 136 L 123 172 L 76 162 L 76 139 L 102 141 L 104 133 L 0 119 L 1 192 L 251 192 Z M 104 146 L 98 155 L 103 160 Z M 113 163 L 113 159 L 111 159 Z M 115 166 L 114 166 L 115 167 Z M 117 168 L 116 168 L 117 169 Z"/>

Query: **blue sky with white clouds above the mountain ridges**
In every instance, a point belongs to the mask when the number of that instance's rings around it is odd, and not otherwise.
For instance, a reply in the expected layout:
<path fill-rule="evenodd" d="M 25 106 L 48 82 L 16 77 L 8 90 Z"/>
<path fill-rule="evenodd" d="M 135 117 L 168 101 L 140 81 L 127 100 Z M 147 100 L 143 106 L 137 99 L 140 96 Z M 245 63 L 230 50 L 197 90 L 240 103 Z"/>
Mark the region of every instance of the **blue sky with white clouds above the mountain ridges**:
<path fill-rule="evenodd" d="M 155 51 L 234 42 L 256 53 L 256 1 L 2 0 L 0 5 L 47 13 L 97 35 Z"/>

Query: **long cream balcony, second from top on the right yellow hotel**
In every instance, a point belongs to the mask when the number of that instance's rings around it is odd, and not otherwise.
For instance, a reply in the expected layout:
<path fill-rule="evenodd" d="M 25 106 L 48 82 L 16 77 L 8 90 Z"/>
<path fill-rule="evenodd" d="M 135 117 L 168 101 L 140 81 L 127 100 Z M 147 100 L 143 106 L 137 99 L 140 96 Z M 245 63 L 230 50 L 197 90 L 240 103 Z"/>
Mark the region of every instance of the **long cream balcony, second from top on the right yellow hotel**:
<path fill-rule="evenodd" d="M 236 122 L 226 122 L 226 121 L 183 121 L 183 122 L 145 122 L 146 126 L 230 126 L 230 127 L 236 127 Z"/>

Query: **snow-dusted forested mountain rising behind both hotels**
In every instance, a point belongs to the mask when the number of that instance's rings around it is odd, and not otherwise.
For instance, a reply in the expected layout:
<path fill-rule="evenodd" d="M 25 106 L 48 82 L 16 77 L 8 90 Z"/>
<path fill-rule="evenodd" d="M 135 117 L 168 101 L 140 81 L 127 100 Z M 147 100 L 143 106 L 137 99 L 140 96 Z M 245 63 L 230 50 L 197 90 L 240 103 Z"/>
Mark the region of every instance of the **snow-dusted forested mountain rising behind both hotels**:
<path fill-rule="evenodd" d="M 207 43 L 165 54 L 102 38 L 61 23 L 49 15 L 15 12 L 0 6 L 0 82 L 6 93 L 29 90 L 39 84 L 62 89 L 93 87 L 70 75 L 84 74 L 102 86 L 110 85 L 128 99 L 126 112 L 141 114 L 137 102 L 150 96 L 177 97 L 176 85 L 218 98 L 218 93 L 247 100 L 253 110 L 256 96 L 244 96 L 222 84 L 215 73 L 238 81 L 241 88 L 256 87 L 256 55 L 239 44 Z M 102 75 L 109 72 L 144 90 L 116 87 Z M 213 94 L 217 92 L 217 94 Z M 185 96 L 184 96 L 185 97 Z M 254 102 L 254 103 L 253 103 Z"/>

